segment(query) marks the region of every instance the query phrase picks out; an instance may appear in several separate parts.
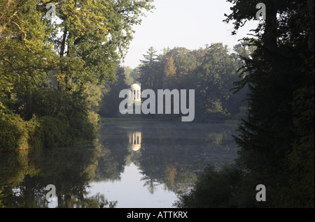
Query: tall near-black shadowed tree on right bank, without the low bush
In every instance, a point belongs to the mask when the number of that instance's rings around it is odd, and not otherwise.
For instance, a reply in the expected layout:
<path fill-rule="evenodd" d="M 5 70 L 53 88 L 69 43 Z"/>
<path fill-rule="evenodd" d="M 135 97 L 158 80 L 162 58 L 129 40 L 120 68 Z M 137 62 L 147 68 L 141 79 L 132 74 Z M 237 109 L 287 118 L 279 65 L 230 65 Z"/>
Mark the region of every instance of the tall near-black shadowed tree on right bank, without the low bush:
<path fill-rule="evenodd" d="M 255 19 L 257 2 L 233 3 L 225 22 L 234 21 L 236 31 Z M 314 156 L 314 117 L 310 117 L 309 127 L 300 125 L 304 114 L 314 113 L 314 52 L 308 47 L 314 28 L 307 1 L 264 3 L 267 19 L 260 22 L 251 39 L 257 49 L 243 58 L 244 79 L 237 83 L 238 89 L 249 89 L 248 116 L 235 138 L 241 147 L 238 163 L 252 183 L 264 182 L 269 187 L 269 207 L 314 207 L 314 183 L 310 182 L 314 181 L 314 158 L 302 161 L 299 156 L 302 150 Z M 303 111 L 297 116 L 301 101 Z M 302 144 L 302 140 L 308 142 Z M 297 180 L 300 177 L 304 179 Z M 291 195 L 297 187 L 297 195 Z"/>

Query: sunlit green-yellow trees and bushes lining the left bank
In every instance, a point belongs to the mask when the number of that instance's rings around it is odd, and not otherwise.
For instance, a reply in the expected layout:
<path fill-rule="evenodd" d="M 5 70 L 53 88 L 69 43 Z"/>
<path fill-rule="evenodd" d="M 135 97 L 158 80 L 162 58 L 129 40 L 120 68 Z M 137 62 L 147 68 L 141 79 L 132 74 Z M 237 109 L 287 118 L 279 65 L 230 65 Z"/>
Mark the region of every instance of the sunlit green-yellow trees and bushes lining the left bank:
<path fill-rule="evenodd" d="M 151 2 L 1 0 L 0 151 L 95 138 L 96 86 L 116 79 Z"/>

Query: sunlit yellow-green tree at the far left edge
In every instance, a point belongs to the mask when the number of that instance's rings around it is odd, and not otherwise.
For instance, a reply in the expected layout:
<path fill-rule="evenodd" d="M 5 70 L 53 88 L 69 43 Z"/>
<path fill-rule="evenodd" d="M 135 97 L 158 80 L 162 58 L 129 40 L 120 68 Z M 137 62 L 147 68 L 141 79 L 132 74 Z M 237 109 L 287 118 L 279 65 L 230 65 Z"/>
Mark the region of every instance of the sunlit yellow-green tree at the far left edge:
<path fill-rule="evenodd" d="M 9 15 L 3 14 L 7 22 L 0 38 L 0 103 L 19 114 L 18 108 L 23 105 L 24 119 L 31 119 L 34 90 L 47 81 L 57 59 L 48 41 L 49 28 L 36 10 L 37 3 L 8 1 L 4 11 L 13 11 L 14 16 L 8 20 L 5 16 Z"/>

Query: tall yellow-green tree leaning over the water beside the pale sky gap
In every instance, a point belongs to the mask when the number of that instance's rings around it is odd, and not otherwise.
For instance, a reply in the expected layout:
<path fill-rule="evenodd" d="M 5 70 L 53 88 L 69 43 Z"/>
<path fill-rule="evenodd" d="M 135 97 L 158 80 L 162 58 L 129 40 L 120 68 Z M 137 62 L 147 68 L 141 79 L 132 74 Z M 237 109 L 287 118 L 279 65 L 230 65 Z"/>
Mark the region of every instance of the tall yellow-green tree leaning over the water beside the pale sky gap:
<path fill-rule="evenodd" d="M 47 1 L 48 2 L 48 1 Z M 85 82 L 113 80 L 119 59 L 132 40 L 132 26 L 140 24 L 150 1 L 62 1 L 55 26 L 62 35 L 54 39 L 60 57 L 59 89 L 78 91 Z"/>

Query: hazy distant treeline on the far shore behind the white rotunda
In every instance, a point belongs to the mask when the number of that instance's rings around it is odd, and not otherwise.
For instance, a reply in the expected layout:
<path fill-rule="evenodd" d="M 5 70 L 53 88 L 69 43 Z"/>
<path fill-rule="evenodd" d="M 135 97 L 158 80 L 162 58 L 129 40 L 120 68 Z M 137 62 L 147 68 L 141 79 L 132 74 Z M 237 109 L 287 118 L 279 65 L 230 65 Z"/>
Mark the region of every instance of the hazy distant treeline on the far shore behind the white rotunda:
<path fill-rule="evenodd" d="M 118 117 L 120 90 L 132 83 L 141 84 L 141 90 L 195 89 L 195 121 L 223 122 L 246 117 L 246 89 L 234 94 L 234 82 L 241 80 L 237 74 L 242 65 L 240 56 L 249 57 L 254 47 L 246 43 L 235 45 L 233 51 L 222 43 L 207 45 L 198 50 L 185 47 L 165 49 L 157 54 L 153 47 L 144 54 L 141 65 L 134 70 L 118 68 L 118 82 L 104 96 L 101 114 Z M 157 103 L 157 101 L 156 101 Z M 157 105 L 156 105 L 157 107 Z M 158 120 L 179 120 L 179 114 L 143 114 Z"/>

